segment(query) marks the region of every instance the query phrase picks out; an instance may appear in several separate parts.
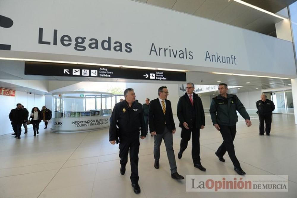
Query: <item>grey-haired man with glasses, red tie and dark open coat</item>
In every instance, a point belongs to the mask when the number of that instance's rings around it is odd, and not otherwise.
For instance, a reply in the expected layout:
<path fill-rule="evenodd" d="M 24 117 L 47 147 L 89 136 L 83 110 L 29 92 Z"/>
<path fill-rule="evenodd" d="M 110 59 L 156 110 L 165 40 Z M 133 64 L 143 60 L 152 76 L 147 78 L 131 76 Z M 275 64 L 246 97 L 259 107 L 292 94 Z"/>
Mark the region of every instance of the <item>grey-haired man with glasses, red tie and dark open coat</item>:
<path fill-rule="evenodd" d="M 192 159 L 194 166 L 202 171 L 206 169 L 200 162 L 200 129 L 205 127 L 205 115 L 200 97 L 194 93 L 194 84 L 187 83 L 186 93 L 179 98 L 177 103 L 177 117 L 181 127 L 181 144 L 178 159 L 188 146 L 192 133 Z"/>

